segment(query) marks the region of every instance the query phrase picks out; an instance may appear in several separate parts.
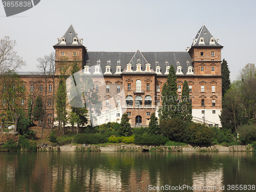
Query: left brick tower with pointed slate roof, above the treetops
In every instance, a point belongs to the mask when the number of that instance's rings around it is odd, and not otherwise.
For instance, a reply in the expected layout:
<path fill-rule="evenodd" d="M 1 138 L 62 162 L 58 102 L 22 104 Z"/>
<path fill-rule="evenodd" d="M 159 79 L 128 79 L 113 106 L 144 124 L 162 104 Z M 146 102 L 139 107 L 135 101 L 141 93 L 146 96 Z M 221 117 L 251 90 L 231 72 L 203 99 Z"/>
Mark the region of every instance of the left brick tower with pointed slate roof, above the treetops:
<path fill-rule="evenodd" d="M 87 50 L 83 46 L 83 39 L 77 37 L 72 25 L 61 38 L 57 38 L 57 44 L 53 48 L 55 49 L 56 75 L 62 72 L 65 75 L 70 74 L 73 63 L 77 63 L 79 70 L 82 69 L 84 53 Z"/>

